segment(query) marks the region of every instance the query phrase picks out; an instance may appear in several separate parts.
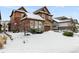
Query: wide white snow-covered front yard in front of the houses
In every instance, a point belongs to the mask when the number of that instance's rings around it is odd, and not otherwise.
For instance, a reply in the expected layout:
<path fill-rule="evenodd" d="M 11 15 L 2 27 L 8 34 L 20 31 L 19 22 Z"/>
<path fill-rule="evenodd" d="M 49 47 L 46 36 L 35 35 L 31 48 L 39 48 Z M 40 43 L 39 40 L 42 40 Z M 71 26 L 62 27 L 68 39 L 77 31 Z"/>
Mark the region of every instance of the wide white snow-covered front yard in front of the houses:
<path fill-rule="evenodd" d="M 44 52 L 44 53 L 67 53 L 79 52 L 79 33 L 74 37 L 63 36 L 62 33 L 48 31 L 43 34 L 24 36 L 24 33 L 11 33 L 13 40 L 8 38 L 7 44 L 0 52 Z M 25 43 L 24 43 L 25 42 Z"/>

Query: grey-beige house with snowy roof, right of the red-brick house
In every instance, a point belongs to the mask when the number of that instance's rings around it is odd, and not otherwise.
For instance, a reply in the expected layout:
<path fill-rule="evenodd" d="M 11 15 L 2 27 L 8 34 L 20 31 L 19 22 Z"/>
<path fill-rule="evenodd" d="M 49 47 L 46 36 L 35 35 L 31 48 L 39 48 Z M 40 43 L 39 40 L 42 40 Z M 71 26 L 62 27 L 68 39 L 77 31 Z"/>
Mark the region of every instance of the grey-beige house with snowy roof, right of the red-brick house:
<path fill-rule="evenodd" d="M 60 31 L 74 31 L 75 29 L 75 22 L 74 19 L 68 18 L 65 16 L 56 17 L 54 19 L 57 22 L 58 30 Z"/>

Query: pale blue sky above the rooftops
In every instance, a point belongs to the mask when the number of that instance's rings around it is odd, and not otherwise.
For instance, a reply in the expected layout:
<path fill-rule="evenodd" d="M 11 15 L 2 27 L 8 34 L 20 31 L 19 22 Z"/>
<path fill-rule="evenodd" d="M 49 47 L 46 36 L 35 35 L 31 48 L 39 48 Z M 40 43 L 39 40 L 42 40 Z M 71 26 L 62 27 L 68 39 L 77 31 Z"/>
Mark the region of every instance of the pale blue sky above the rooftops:
<path fill-rule="evenodd" d="M 13 9 L 18 9 L 20 6 L 0 6 L 2 20 L 10 20 L 10 14 Z M 24 6 L 30 13 L 41 8 L 42 6 Z M 53 17 L 68 16 L 79 21 L 79 6 L 47 6 Z"/>

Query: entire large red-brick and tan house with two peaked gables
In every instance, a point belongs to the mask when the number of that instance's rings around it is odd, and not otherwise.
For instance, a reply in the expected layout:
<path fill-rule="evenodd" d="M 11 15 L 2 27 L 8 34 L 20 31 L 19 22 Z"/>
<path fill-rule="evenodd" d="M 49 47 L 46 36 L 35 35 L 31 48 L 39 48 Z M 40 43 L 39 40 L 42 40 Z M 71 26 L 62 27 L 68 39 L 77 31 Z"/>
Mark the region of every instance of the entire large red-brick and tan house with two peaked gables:
<path fill-rule="evenodd" d="M 52 30 L 52 15 L 47 7 L 29 13 L 24 7 L 13 10 L 10 15 L 10 30 L 29 31 L 30 29 L 42 31 Z"/>

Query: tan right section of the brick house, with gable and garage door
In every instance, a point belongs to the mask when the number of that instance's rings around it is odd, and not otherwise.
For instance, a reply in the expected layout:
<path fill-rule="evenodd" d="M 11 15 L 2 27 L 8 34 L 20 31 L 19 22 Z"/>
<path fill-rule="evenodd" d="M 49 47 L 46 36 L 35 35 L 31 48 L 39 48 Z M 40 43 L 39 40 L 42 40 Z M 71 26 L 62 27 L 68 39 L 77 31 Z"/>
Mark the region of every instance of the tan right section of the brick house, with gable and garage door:
<path fill-rule="evenodd" d="M 49 10 L 47 9 L 46 6 L 36 10 L 34 12 L 34 14 L 37 14 L 37 15 L 41 16 L 43 19 L 45 19 L 44 31 L 52 30 L 52 25 L 53 25 L 52 16 L 53 15 L 51 15 L 51 13 L 49 12 Z"/>

